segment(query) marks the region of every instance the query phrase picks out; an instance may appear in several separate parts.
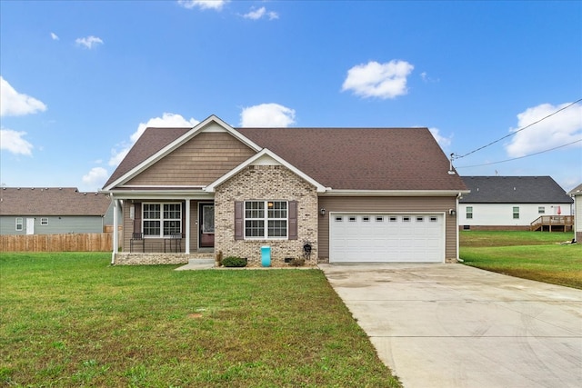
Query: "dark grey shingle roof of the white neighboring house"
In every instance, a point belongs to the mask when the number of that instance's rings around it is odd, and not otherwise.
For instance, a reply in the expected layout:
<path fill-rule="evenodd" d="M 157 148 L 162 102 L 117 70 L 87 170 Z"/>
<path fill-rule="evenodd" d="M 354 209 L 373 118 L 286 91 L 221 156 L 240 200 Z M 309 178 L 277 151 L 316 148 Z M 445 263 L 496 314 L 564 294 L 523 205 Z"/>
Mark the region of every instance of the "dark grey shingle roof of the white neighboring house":
<path fill-rule="evenodd" d="M 550 176 L 463 176 L 469 194 L 461 204 L 572 204 Z"/>

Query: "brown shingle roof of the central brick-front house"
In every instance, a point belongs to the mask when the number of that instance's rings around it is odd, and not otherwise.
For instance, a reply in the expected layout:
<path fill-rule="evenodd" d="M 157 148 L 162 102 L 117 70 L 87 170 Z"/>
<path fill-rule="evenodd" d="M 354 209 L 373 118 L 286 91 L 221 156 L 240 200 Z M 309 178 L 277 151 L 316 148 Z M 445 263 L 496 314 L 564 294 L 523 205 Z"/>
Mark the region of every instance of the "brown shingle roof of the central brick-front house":
<path fill-rule="evenodd" d="M 191 128 L 147 128 L 105 187 Z M 427 128 L 236 128 L 320 184 L 343 190 L 466 190 Z"/>

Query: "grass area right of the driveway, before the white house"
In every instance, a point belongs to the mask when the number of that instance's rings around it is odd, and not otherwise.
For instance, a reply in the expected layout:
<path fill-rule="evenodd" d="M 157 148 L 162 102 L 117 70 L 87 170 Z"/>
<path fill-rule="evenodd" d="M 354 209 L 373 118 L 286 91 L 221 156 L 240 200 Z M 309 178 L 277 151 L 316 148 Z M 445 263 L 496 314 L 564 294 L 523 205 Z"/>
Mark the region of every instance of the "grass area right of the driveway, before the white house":
<path fill-rule="evenodd" d="M 487 271 L 582 289 L 582 244 L 573 233 L 460 233 L 459 255 L 465 264 Z"/>

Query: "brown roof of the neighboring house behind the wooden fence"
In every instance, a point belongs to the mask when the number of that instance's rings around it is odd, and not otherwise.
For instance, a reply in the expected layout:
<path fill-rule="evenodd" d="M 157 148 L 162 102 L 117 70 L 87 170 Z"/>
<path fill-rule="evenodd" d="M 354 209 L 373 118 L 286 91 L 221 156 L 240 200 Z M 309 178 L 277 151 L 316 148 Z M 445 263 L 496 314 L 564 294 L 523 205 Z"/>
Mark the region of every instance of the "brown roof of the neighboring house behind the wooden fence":
<path fill-rule="evenodd" d="M 79 193 L 75 187 L 3 187 L 1 215 L 105 215 L 108 195 Z"/>

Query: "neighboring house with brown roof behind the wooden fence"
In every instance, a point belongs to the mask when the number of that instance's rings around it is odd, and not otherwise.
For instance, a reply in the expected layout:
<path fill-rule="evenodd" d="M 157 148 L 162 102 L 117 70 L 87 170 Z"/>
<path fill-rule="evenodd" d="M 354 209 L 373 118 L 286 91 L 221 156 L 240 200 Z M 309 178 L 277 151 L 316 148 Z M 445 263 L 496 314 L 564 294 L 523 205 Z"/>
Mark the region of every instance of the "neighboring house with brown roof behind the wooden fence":
<path fill-rule="evenodd" d="M 106 194 L 75 187 L 0 189 L 0 234 L 103 233 L 106 224 L 113 224 Z"/>

